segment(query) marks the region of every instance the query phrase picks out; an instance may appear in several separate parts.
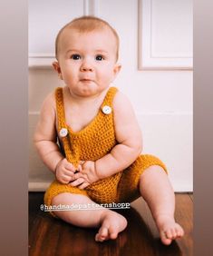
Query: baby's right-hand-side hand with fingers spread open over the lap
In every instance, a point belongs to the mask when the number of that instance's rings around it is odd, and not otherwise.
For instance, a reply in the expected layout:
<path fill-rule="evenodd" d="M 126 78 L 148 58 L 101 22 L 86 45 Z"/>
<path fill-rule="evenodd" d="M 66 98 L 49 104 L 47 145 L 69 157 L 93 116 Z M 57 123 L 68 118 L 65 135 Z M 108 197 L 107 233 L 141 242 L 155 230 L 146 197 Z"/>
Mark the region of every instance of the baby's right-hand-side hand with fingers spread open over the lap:
<path fill-rule="evenodd" d="M 73 174 L 73 182 L 70 182 L 70 185 L 73 187 L 84 189 L 93 182 L 100 180 L 95 170 L 95 163 L 92 161 L 80 162 L 78 171 L 79 172 Z"/>

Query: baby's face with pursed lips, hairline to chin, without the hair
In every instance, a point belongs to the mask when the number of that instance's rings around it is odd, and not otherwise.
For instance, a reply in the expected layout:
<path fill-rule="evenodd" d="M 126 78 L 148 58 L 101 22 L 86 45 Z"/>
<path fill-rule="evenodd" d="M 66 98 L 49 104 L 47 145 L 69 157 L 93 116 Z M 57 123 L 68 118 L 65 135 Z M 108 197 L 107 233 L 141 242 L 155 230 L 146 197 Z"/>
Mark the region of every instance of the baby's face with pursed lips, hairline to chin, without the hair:
<path fill-rule="evenodd" d="M 102 93 L 120 70 L 116 39 L 110 29 L 80 33 L 66 29 L 59 42 L 61 77 L 77 96 Z"/>

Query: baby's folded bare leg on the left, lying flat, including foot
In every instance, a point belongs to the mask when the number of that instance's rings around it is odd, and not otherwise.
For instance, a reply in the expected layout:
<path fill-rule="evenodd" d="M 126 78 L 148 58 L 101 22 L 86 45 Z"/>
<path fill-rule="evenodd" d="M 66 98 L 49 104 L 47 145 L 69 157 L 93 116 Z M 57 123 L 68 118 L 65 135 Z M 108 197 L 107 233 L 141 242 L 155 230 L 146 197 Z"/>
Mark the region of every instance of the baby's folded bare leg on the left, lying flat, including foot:
<path fill-rule="evenodd" d="M 53 197 L 52 205 L 91 204 L 92 200 L 81 194 L 63 192 Z M 100 210 L 78 210 L 78 211 L 54 211 L 54 214 L 65 222 L 72 223 L 79 227 L 96 228 L 100 227 L 95 236 L 95 241 L 116 239 L 118 233 L 127 226 L 126 219 L 117 212 L 103 208 Z"/>

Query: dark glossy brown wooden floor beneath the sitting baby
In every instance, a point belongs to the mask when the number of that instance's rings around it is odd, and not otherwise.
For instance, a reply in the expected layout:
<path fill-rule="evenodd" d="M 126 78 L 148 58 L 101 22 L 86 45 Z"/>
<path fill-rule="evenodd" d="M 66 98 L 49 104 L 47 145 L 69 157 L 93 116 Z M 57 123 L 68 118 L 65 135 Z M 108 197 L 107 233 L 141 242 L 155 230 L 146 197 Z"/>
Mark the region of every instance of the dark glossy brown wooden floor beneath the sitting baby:
<path fill-rule="evenodd" d="M 29 255 L 30 256 L 192 256 L 193 195 L 176 194 L 176 221 L 184 228 L 185 236 L 161 244 L 155 223 L 146 202 L 141 198 L 131 203 L 131 210 L 122 210 L 128 227 L 117 240 L 94 241 L 95 229 L 82 229 L 42 212 L 43 192 L 29 193 Z"/>

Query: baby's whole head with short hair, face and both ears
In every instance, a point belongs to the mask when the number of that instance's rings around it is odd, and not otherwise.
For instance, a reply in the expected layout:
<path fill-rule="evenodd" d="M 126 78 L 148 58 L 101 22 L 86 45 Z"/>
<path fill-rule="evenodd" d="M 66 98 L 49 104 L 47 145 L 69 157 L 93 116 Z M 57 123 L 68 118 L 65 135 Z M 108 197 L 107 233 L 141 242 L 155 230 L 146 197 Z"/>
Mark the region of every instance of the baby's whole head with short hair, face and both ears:
<path fill-rule="evenodd" d="M 82 16 L 64 25 L 55 41 L 54 69 L 70 91 L 101 93 L 119 73 L 119 36 L 107 22 Z"/>

